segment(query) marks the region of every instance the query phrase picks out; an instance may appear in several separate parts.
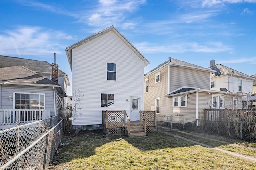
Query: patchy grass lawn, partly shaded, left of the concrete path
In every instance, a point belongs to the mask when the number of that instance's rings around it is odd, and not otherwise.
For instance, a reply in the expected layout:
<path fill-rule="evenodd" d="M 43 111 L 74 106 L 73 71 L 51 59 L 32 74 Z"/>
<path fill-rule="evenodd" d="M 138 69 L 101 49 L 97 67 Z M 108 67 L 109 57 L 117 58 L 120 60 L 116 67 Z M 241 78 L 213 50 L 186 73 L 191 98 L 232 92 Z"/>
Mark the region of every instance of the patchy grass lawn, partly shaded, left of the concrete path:
<path fill-rule="evenodd" d="M 87 133 L 87 134 L 86 134 Z M 65 136 L 49 169 L 254 169 L 255 163 L 163 133 L 129 138 L 83 132 Z"/>

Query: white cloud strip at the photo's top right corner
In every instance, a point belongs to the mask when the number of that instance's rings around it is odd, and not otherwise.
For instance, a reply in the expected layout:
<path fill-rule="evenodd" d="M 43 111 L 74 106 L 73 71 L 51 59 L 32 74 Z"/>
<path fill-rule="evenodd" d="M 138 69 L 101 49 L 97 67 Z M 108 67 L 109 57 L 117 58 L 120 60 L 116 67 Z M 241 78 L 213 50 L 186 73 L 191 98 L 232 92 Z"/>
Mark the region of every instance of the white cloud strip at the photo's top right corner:
<path fill-rule="evenodd" d="M 224 5 L 224 4 L 236 4 L 236 3 L 256 3 L 256 0 L 204 0 L 202 2 L 202 7 L 214 6 L 214 5 Z"/>

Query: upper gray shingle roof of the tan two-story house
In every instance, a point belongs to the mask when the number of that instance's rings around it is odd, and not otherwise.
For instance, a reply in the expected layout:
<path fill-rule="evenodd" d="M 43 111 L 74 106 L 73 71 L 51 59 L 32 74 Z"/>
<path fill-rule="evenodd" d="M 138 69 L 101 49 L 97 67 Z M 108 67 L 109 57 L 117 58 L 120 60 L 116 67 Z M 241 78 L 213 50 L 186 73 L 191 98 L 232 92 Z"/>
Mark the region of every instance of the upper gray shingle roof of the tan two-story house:
<path fill-rule="evenodd" d="M 204 70 L 204 71 L 207 71 L 207 72 L 215 72 L 213 70 L 209 70 L 207 68 L 204 68 L 204 67 L 201 67 L 201 66 L 198 66 L 198 65 L 195 65 L 195 64 L 191 64 L 191 63 L 188 63 L 188 62 L 185 62 L 185 61 L 181 61 L 181 60 L 177 60 L 177 59 L 174 59 L 172 57 L 169 57 L 169 59 L 167 61 L 160 64 L 159 66 L 157 66 L 153 70 L 147 72 L 146 74 L 144 74 L 144 76 L 148 76 L 152 72 L 155 72 L 156 70 L 159 70 L 160 68 L 166 66 L 167 64 L 169 64 L 170 66 L 182 66 L 182 67 L 186 67 L 186 68 Z"/>

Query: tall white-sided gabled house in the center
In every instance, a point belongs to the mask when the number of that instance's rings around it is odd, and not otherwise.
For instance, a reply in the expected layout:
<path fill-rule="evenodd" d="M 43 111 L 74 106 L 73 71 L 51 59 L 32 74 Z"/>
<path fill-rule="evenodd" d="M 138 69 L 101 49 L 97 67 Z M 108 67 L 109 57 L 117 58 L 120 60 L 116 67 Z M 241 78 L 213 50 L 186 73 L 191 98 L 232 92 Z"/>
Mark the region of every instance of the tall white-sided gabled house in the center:
<path fill-rule="evenodd" d="M 72 70 L 72 101 L 84 95 L 73 128 L 102 128 L 102 111 L 125 110 L 130 120 L 143 110 L 143 74 L 148 60 L 114 27 L 66 48 Z M 77 116 L 77 117 L 76 117 Z"/>

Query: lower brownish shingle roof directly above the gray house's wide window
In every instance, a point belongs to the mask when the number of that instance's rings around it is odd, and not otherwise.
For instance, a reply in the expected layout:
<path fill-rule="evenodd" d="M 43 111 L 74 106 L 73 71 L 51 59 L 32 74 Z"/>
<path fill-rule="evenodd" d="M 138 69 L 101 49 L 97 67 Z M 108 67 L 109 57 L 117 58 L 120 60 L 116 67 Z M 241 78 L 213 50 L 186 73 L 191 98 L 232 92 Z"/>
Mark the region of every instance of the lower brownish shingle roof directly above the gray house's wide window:
<path fill-rule="evenodd" d="M 60 87 L 59 84 L 29 70 L 24 66 L 0 68 L 0 84 L 26 83 L 27 85 L 42 84 Z"/>

